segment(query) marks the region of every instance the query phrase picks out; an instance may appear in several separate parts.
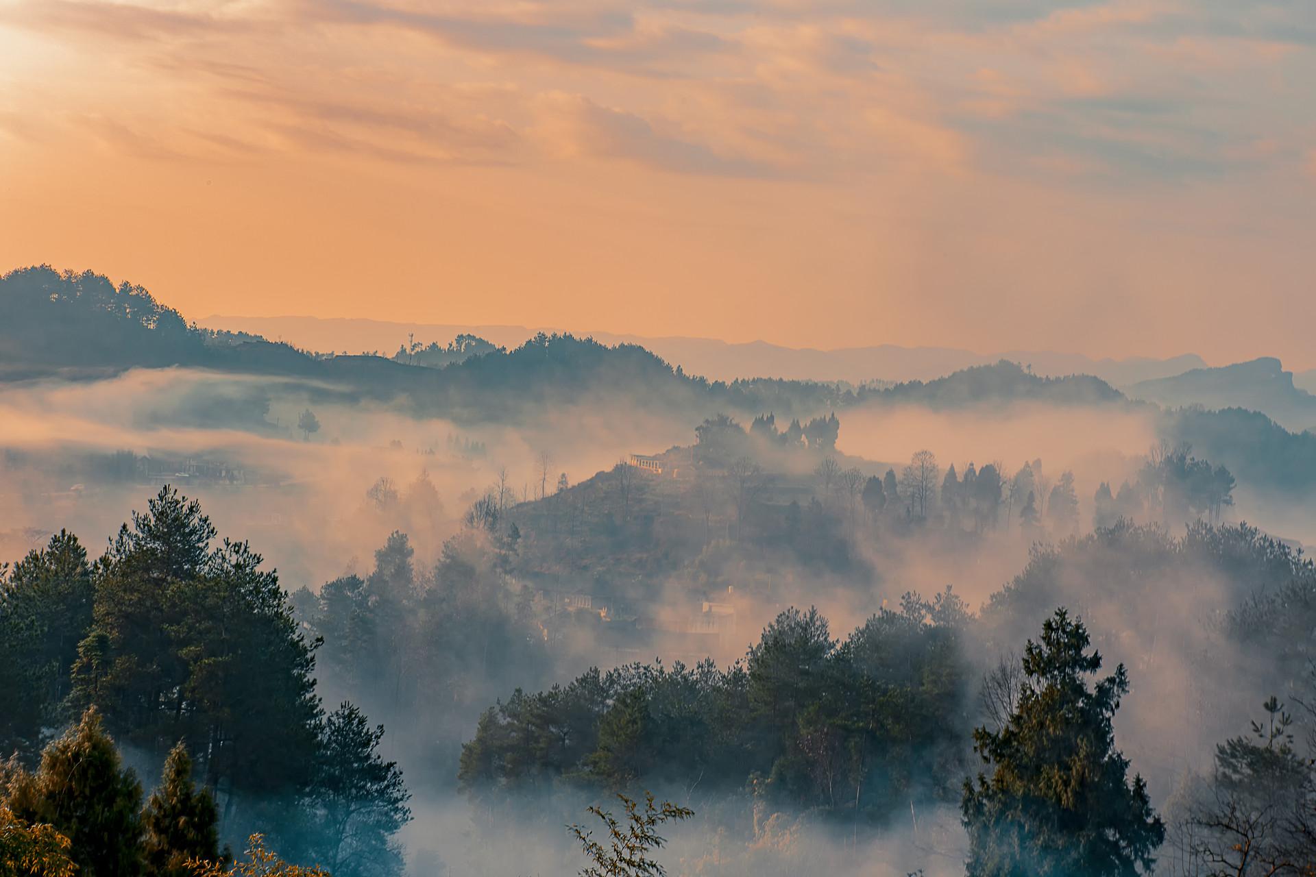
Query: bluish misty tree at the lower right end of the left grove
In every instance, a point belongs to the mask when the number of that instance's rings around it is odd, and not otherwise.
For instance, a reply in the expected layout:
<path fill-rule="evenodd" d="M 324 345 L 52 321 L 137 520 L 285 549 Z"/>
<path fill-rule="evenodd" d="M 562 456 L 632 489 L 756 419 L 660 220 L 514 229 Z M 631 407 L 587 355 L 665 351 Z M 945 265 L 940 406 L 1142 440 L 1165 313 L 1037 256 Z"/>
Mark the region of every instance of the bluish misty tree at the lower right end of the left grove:
<path fill-rule="evenodd" d="M 384 726 L 343 703 L 320 734 L 316 778 L 308 795 L 313 859 L 334 877 L 400 874 L 392 836 L 411 820 L 403 773 L 379 755 Z"/>

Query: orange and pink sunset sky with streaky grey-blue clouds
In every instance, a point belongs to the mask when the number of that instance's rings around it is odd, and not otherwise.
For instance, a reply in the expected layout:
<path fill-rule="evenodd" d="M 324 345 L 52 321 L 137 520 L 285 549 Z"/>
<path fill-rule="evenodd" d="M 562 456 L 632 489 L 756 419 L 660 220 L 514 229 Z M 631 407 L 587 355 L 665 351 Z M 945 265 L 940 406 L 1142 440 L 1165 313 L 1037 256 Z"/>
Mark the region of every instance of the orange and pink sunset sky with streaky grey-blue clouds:
<path fill-rule="evenodd" d="M 0 0 L 0 270 L 1316 368 L 1312 0 Z"/>

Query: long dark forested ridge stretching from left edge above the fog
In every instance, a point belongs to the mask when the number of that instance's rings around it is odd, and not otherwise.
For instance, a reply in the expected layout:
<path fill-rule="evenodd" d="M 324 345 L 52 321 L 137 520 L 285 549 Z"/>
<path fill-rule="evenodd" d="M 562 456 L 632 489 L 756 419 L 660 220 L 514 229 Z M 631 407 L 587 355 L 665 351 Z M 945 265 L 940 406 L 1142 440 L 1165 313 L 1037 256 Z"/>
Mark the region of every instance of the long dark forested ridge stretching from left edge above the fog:
<path fill-rule="evenodd" d="M 884 388 L 772 379 L 728 384 L 686 375 L 638 344 L 608 347 L 544 334 L 511 351 L 495 348 L 443 368 L 424 368 L 380 356 L 318 355 L 257 335 L 199 329 L 146 289 L 116 287 L 92 272 L 59 273 L 42 266 L 0 277 L 0 375 L 96 376 L 167 366 L 315 380 L 349 397 L 405 400 L 418 413 L 468 421 L 619 400 L 687 417 L 722 410 L 805 417 L 880 404 L 1124 401 L 1099 379 L 1044 379 L 1007 362 Z"/>

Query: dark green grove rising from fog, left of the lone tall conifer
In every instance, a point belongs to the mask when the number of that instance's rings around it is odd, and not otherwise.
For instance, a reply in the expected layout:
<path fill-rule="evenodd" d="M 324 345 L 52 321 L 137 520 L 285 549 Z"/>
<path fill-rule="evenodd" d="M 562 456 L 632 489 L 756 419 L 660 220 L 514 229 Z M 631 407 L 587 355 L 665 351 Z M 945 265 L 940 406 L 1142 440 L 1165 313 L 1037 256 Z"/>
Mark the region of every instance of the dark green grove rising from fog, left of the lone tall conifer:
<path fill-rule="evenodd" d="M 483 802 L 559 782 L 751 782 L 792 806 L 883 818 L 908 794 L 946 798 L 962 776 L 966 618 L 949 589 L 909 594 L 837 642 L 816 610 L 788 609 L 725 671 L 633 664 L 519 689 L 480 717 L 458 776 Z"/>

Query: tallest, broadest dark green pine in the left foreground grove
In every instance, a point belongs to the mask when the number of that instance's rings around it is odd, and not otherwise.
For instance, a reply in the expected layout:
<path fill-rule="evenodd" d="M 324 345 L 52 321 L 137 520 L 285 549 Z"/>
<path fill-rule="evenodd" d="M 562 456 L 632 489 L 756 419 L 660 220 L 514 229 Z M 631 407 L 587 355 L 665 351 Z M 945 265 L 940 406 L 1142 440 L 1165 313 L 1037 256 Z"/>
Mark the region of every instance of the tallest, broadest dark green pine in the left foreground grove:
<path fill-rule="evenodd" d="M 195 501 L 164 488 L 96 567 L 93 627 L 72 702 L 163 760 L 195 740 L 207 785 L 265 798 L 309 776 L 315 655 L 288 596 L 250 546 L 212 546 Z M 75 839 L 76 843 L 76 839 Z"/>

